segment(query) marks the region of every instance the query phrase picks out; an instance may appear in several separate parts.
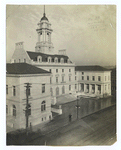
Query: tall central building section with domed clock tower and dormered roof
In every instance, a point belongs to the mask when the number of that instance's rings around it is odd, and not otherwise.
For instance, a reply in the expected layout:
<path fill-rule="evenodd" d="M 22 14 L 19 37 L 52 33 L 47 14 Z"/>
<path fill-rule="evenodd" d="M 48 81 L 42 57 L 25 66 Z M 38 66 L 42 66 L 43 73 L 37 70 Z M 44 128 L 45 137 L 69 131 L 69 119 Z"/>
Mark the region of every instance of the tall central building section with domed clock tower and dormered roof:
<path fill-rule="evenodd" d="M 54 54 L 51 42 L 51 24 L 45 13 L 37 25 L 38 41 L 35 52 L 25 51 L 23 42 L 16 43 L 11 62 L 26 62 L 51 72 L 50 91 L 52 98 L 75 91 L 75 64 L 66 55 L 65 49 Z"/>

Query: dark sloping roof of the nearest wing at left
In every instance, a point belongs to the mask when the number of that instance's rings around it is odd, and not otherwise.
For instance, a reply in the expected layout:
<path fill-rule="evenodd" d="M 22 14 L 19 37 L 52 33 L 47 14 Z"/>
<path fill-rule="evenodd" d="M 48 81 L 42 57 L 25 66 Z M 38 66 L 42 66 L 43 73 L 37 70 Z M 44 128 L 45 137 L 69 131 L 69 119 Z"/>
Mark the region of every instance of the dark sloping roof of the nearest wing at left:
<path fill-rule="evenodd" d="M 50 73 L 44 69 L 37 68 L 27 63 L 8 63 L 6 65 L 7 74 L 45 74 Z"/>

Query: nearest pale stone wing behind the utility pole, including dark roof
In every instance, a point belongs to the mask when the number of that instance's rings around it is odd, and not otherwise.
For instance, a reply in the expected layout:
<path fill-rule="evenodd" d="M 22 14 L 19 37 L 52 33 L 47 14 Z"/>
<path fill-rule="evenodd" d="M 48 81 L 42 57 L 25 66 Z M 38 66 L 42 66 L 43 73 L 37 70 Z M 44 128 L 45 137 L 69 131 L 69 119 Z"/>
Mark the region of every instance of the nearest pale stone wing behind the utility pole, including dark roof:
<path fill-rule="evenodd" d="M 29 90 L 29 123 L 36 125 L 52 119 L 50 73 L 26 63 L 7 64 L 6 115 L 8 127 L 26 127 L 26 84 Z"/>

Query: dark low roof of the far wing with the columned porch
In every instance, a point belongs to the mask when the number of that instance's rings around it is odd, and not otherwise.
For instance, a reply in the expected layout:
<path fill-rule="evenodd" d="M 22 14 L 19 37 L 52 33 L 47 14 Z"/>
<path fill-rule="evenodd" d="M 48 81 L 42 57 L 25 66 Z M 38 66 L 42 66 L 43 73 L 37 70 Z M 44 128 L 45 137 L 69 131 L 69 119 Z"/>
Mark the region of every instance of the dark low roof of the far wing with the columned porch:
<path fill-rule="evenodd" d="M 75 71 L 110 71 L 110 70 L 96 65 L 96 66 L 76 66 Z"/>

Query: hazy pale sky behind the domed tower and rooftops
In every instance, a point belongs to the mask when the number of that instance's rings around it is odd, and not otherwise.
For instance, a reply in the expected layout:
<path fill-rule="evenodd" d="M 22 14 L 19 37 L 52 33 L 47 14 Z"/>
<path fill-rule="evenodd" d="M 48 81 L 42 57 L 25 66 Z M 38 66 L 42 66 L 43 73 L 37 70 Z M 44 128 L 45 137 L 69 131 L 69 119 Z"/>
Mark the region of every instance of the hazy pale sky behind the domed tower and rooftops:
<path fill-rule="evenodd" d="M 7 62 L 15 43 L 24 41 L 26 51 L 35 51 L 37 23 L 43 16 L 43 5 L 7 5 Z M 66 49 L 77 65 L 116 65 L 115 5 L 46 5 L 46 16 L 52 24 L 55 53 Z"/>

